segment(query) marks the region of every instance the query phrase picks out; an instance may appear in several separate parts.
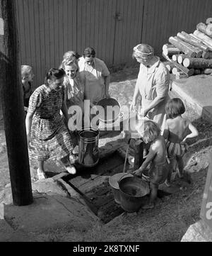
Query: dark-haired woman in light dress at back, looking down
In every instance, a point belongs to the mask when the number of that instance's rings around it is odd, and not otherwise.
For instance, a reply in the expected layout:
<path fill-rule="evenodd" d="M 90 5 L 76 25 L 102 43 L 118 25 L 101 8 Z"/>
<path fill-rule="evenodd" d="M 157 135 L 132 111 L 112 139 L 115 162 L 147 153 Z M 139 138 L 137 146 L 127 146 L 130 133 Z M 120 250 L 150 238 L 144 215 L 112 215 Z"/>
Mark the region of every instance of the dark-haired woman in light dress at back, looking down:
<path fill-rule="evenodd" d="M 83 57 L 78 61 L 79 71 L 86 78 L 85 99 L 90 101 L 90 107 L 105 97 L 110 97 L 108 90 L 110 84 L 110 72 L 105 62 L 95 57 L 93 48 L 86 48 Z M 90 114 L 90 113 L 89 113 Z M 89 117 L 90 116 L 90 117 Z M 90 120 L 93 115 L 84 116 L 86 126 L 90 126 Z"/>

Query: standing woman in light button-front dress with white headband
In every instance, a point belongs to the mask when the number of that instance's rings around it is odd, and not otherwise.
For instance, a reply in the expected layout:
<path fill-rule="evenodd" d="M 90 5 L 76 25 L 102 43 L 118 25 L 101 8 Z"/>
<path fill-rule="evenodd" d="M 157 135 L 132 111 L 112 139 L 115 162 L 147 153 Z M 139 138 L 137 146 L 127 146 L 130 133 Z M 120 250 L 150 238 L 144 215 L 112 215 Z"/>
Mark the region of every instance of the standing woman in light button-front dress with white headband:
<path fill-rule="evenodd" d="M 154 56 L 154 50 L 150 45 L 136 45 L 133 57 L 140 63 L 140 70 L 130 110 L 136 111 L 136 99 L 140 94 L 139 116 L 147 116 L 158 123 L 163 133 L 170 74 L 160 58 Z"/>

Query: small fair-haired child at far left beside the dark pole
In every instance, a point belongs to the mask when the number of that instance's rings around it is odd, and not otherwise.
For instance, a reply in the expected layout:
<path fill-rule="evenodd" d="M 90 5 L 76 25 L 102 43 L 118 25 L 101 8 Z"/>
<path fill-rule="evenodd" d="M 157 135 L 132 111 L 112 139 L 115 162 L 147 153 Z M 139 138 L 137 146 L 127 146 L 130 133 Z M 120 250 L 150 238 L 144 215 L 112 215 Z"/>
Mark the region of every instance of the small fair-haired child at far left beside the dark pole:
<path fill-rule="evenodd" d="M 28 65 L 22 65 L 21 66 L 21 83 L 23 87 L 23 105 L 24 105 L 24 111 L 28 111 L 30 96 L 32 94 L 32 82 L 33 77 L 35 77 L 35 74 L 33 74 L 33 68 Z"/>

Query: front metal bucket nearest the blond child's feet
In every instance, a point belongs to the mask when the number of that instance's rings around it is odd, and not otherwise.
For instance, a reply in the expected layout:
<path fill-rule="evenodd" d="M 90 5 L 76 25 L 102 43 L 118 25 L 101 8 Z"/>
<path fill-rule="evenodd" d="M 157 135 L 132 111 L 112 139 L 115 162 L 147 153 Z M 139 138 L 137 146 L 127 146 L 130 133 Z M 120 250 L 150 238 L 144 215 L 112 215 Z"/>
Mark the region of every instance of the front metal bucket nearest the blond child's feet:
<path fill-rule="evenodd" d="M 121 206 L 124 211 L 129 213 L 138 211 L 146 203 L 146 196 L 150 189 L 148 182 L 139 177 L 124 177 L 119 182 L 119 194 Z"/>

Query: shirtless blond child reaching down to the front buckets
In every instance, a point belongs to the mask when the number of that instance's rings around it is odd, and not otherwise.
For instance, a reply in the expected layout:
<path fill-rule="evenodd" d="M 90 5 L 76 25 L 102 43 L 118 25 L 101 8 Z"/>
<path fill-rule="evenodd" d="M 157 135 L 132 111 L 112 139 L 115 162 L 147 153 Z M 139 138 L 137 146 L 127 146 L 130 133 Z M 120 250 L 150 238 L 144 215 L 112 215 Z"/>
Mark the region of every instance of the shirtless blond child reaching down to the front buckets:
<path fill-rule="evenodd" d="M 149 204 L 143 208 L 153 208 L 158 194 L 158 186 L 165 182 L 169 172 L 169 165 L 166 157 L 165 139 L 160 135 L 158 124 L 148 120 L 144 121 L 143 126 L 139 126 L 139 134 L 144 143 L 151 143 L 146 160 L 141 167 L 133 172 L 141 176 L 142 172 L 150 165 L 148 175 L 150 177 L 151 195 Z"/>

